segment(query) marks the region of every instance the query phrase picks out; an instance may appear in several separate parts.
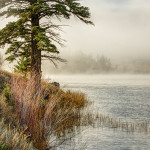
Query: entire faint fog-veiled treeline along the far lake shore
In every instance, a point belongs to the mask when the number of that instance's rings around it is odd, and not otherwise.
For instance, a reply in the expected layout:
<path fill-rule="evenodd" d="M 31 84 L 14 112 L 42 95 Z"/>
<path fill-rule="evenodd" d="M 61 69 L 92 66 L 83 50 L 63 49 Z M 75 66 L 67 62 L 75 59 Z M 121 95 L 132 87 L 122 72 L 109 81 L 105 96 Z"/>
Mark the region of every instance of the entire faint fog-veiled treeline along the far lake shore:
<path fill-rule="evenodd" d="M 150 73 L 150 60 L 146 59 L 114 63 L 107 56 L 83 52 L 71 53 L 65 58 L 67 63 L 59 63 L 58 68 L 52 65 L 48 67 L 46 63 L 43 71 L 56 74 Z"/>

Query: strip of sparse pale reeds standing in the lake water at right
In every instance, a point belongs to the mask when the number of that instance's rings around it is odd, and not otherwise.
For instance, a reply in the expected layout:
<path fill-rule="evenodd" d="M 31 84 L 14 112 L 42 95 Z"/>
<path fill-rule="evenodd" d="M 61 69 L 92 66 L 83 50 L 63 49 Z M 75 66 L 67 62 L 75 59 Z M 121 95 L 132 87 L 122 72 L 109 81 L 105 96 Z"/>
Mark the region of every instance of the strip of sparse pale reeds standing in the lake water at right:
<path fill-rule="evenodd" d="M 126 131 L 128 133 L 133 132 L 145 132 L 148 133 L 150 131 L 150 126 L 147 121 L 144 122 L 129 122 L 121 119 L 116 119 L 110 116 L 102 115 L 97 113 L 97 115 L 91 113 L 83 114 L 82 117 L 82 125 L 88 126 L 89 124 L 92 127 L 108 127 L 112 129 L 121 129 L 122 131 Z"/>

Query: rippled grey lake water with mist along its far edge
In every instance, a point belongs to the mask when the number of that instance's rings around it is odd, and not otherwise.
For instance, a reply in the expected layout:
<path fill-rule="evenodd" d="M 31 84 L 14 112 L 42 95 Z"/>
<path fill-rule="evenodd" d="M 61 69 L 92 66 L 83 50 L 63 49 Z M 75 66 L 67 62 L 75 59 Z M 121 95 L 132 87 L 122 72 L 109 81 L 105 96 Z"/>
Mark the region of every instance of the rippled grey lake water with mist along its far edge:
<path fill-rule="evenodd" d="M 150 75 L 49 76 L 64 89 L 84 92 L 103 115 L 131 122 L 150 122 Z M 82 144 L 81 144 L 82 143 Z M 77 149 L 150 150 L 150 133 L 127 133 L 110 128 L 89 128 Z"/>

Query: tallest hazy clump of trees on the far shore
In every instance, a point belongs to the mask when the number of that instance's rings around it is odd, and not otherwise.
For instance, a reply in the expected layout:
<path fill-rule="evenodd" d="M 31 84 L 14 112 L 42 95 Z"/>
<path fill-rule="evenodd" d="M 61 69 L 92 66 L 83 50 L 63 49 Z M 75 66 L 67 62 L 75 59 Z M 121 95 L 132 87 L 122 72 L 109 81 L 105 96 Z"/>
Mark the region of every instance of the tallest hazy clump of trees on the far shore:
<path fill-rule="evenodd" d="M 53 68 L 55 73 L 109 73 L 114 72 L 116 67 L 111 60 L 104 55 L 96 57 L 83 52 L 75 53 L 66 57 L 67 63 L 59 64 L 58 68 Z"/>

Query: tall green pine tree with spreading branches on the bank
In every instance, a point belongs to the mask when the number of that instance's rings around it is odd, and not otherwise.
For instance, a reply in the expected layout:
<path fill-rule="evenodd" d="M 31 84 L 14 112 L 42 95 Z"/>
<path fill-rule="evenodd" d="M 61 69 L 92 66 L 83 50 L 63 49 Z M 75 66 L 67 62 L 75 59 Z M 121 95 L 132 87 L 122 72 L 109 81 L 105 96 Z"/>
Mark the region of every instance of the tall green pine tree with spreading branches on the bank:
<path fill-rule="evenodd" d="M 9 45 L 6 59 L 12 62 L 22 56 L 30 57 L 31 73 L 39 77 L 42 58 L 53 63 L 62 61 L 53 55 L 59 53 L 54 42 L 62 44 L 62 40 L 56 32 L 59 26 L 52 24 L 51 19 L 70 19 L 74 15 L 92 24 L 88 7 L 82 6 L 80 0 L 1 0 L 0 10 L 0 16 L 18 18 L 0 31 L 0 46 Z"/>

